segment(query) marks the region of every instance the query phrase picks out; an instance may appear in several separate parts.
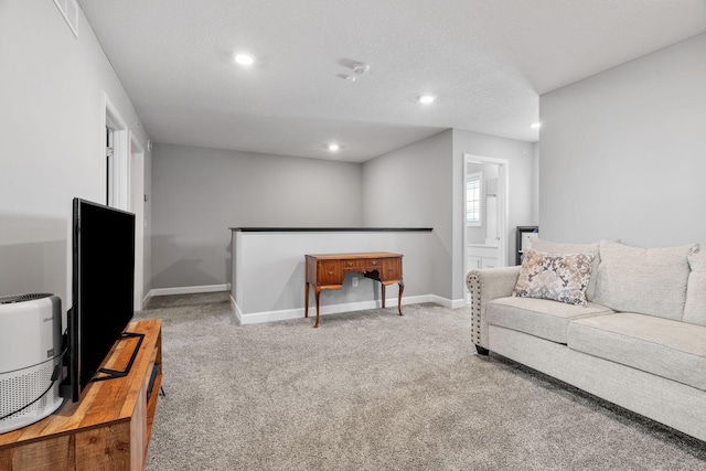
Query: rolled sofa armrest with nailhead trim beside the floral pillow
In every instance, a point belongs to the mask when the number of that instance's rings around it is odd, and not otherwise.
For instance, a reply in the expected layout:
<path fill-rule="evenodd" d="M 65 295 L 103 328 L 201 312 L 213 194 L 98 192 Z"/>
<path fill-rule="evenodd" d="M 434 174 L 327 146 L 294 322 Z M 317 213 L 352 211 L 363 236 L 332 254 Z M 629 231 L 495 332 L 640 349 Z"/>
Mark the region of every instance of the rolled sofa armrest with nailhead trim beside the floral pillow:
<path fill-rule="evenodd" d="M 471 338 L 479 352 L 488 353 L 488 320 L 485 306 L 496 298 L 512 296 L 520 266 L 484 268 L 471 270 L 466 277 L 466 286 L 471 293 Z"/>

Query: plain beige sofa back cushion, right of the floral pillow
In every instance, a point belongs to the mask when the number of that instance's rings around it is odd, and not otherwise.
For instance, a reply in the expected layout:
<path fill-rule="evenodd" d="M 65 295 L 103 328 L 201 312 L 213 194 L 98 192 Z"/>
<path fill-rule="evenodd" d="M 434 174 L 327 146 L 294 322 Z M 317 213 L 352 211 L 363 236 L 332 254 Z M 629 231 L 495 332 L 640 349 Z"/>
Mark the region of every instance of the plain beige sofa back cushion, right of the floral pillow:
<path fill-rule="evenodd" d="M 601 240 L 593 300 L 616 311 L 682 320 L 687 257 L 696 247 L 641 248 Z"/>

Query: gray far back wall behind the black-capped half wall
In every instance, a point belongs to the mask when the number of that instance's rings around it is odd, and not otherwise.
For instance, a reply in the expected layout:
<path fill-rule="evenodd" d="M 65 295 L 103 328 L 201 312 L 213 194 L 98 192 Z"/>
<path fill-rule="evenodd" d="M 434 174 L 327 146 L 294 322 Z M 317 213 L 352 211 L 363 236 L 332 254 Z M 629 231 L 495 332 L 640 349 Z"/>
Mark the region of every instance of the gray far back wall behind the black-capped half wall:
<path fill-rule="evenodd" d="M 361 165 L 154 144 L 152 288 L 231 282 L 228 227 L 360 226 Z"/>

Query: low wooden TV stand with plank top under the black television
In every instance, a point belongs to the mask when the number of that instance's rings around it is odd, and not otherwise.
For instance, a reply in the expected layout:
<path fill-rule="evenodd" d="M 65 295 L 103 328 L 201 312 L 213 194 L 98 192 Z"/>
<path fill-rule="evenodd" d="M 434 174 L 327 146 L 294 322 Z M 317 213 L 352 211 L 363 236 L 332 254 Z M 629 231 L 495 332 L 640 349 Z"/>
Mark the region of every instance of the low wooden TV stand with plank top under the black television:
<path fill-rule="evenodd" d="M 0 433 L 0 470 L 145 468 L 162 379 L 161 322 L 131 322 L 126 331 L 145 335 L 130 372 L 90 383 L 78 403 Z M 103 366 L 125 370 L 136 344 L 120 339 Z"/>

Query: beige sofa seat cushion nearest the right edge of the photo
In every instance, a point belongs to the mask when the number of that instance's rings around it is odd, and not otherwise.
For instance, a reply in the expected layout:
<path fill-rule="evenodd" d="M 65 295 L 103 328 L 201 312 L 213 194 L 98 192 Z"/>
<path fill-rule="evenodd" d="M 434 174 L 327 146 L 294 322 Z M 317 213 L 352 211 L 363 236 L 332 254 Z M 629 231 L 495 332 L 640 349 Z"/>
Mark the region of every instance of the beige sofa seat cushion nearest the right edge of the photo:
<path fill-rule="evenodd" d="M 706 390 L 706 327 L 617 312 L 578 319 L 569 349 Z"/>

